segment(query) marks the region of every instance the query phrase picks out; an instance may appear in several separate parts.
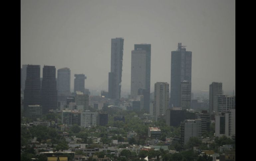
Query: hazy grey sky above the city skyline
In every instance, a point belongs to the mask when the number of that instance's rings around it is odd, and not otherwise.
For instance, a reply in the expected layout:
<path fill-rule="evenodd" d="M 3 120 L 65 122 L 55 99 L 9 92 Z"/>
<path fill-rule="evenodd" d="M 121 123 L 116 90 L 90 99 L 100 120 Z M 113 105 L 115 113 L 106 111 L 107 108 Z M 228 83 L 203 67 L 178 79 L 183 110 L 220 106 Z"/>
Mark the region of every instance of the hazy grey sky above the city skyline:
<path fill-rule="evenodd" d="M 122 92 L 130 92 L 134 44 L 151 44 L 151 92 L 171 82 L 171 51 L 192 51 L 192 92 L 235 89 L 235 0 L 21 0 L 22 64 L 85 74 L 108 90 L 111 38 L 124 38 Z"/>

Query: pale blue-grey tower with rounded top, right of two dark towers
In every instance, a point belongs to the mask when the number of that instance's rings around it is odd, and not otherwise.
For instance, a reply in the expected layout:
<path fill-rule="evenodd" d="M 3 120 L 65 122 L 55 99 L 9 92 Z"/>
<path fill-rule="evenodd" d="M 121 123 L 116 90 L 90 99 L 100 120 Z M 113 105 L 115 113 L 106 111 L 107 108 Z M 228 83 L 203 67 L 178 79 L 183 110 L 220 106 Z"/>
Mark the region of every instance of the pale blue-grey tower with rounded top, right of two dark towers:
<path fill-rule="evenodd" d="M 70 95 L 70 69 L 58 69 L 57 77 L 58 101 L 66 104 L 67 97 Z"/>

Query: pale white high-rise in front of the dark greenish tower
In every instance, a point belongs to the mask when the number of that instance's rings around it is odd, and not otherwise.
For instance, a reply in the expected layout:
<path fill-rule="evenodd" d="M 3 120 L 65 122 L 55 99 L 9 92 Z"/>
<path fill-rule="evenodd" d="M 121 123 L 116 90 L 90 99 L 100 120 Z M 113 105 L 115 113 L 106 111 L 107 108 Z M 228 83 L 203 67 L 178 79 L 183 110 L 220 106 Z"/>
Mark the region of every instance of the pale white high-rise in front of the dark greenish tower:
<path fill-rule="evenodd" d="M 146 89 L 146 50 L 132 50 L 131 99 L 135 100 L 139 89 Z"/>

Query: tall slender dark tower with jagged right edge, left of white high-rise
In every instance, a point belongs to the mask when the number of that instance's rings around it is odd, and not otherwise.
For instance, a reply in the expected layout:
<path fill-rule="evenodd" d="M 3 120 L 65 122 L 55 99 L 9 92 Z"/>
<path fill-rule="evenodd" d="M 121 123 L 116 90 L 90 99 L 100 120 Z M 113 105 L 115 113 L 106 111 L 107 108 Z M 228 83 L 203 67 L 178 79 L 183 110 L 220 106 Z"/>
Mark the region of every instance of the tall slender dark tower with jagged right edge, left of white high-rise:
<path fill-rule="evenodd" d="M 124 39 L 111 39 L 111 71 L 108 73 L 108 97 L 120 99 Z"/>

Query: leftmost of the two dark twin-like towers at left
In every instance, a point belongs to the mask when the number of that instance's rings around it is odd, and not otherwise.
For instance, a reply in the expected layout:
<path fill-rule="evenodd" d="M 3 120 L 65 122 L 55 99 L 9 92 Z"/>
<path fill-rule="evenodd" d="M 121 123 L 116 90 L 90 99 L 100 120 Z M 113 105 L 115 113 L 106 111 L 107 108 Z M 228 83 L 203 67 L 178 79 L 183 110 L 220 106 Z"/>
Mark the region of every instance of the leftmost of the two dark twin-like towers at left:
<path fill-rule="evenodd" d="M 26 65 L 26 74 L 26 88 L 24 89 L 25 115 L 29 105 L 41 105 L 40 65 Z"/>

